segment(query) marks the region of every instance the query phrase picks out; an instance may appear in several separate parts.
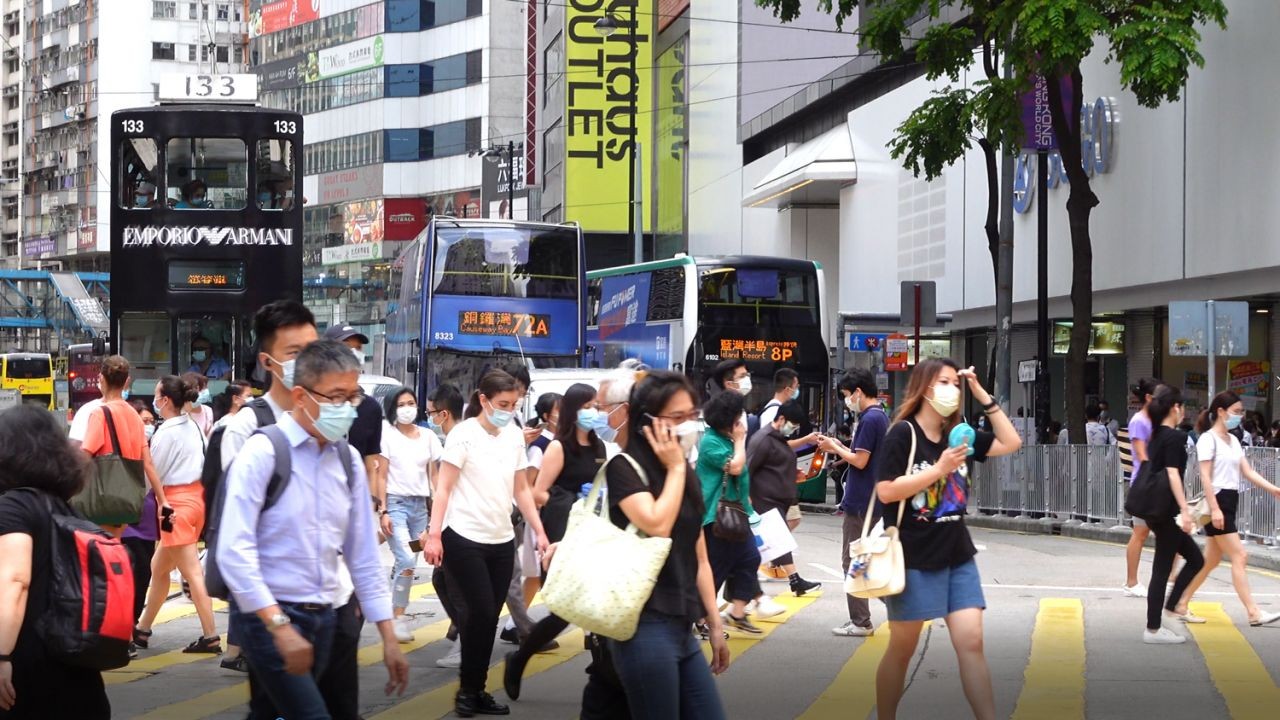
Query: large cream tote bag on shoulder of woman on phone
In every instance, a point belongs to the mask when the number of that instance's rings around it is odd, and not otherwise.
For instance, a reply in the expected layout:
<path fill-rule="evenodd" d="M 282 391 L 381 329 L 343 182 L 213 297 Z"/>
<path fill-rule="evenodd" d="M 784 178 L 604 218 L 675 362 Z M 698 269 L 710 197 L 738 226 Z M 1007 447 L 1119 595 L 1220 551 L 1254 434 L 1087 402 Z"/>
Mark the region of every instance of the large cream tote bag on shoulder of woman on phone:
<path fill-rule="evenodd" d="M 639 462 L 625 452 L 617 457 L 626 457 L 648 484 Z M 646 537 L 635 525 L 621 530 L 609 520 L 608 502 L 596 509 L 607 468 L 600 466 L 591 491 L 570 510 L 543 600 L 553 614 L 589 633 L 628 641 L 671 553 L 671 538 Z"/>

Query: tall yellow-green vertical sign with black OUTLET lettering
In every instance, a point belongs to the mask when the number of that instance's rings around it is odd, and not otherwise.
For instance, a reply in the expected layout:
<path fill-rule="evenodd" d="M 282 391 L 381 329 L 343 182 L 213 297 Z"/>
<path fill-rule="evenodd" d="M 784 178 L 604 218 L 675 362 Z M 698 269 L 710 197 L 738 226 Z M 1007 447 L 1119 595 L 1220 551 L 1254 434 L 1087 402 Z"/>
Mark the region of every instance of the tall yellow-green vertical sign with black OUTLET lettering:
<path fill-rule="evenodd" d="M 653 147 L 653 4 L 568 0 L 564 13 L 564 218 L 585 231 L 626 232 L 635 141 Z M 605 10 L 618 22 L 609 37 L 594 27 Z M 648 167 L 637 172 L 650 177 Z M 643 183 L 646 210 L 650 184 Z"/>

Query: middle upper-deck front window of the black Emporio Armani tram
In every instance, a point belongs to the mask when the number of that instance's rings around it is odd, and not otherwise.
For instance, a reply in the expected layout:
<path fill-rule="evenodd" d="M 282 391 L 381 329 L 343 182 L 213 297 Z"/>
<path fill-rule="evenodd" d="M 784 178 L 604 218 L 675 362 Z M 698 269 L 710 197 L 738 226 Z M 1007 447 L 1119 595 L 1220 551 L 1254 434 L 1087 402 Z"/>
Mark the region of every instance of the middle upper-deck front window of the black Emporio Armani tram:
<path fill-rule="evenodd" d="M 248 195 L 244 142 L 174 137 L 165 146 L 166 200 L 177 210 L 241 210 Z"/>

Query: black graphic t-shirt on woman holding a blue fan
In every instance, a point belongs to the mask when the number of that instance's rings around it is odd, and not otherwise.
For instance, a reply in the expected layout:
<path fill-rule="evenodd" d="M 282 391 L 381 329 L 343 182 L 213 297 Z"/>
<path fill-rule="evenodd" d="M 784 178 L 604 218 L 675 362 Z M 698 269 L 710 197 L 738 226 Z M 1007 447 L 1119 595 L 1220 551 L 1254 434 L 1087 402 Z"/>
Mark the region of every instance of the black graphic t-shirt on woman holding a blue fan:
<path fill-rule="evenodd" d="M 915 459 L 908 468 L 911 452 L 911 433 L 915 433 Z M 980 432 L 973 443 L 972 460 L 983 461 L 996 436 Z M 931 441 L 915 424 L 897 423 L 884 436 L 878 469 L 879 482 L 895 480 L 932 468 L 947 448 L 946 436 L 940 442 Z M 899 533 L 906 566 L 914 570 L 942 570 L 964 565 L 978 550 L 969 538 L 964 516 L 969 509 L 969 480 L 959 470 L 938 480 L 906 500 Z M 897 523 L 900 502 L 884 505 L 884 524 Z"/>

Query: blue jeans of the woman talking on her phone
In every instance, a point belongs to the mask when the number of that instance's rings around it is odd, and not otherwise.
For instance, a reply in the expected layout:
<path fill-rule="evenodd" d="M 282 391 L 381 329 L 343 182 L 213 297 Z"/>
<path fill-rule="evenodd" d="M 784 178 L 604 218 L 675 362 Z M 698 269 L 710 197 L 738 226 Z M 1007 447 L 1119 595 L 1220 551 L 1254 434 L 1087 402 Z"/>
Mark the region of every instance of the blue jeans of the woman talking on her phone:
<path fill-rule="evenodd" d="M 723 720 L 710 666 L 689 620 L 645 611 L 630 641 L 608 641 L 635 720 Z"/>

